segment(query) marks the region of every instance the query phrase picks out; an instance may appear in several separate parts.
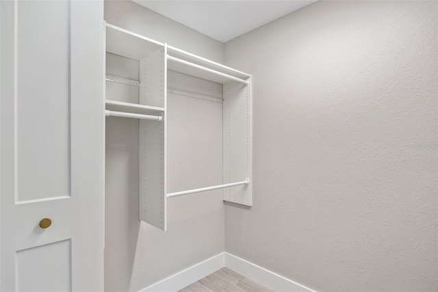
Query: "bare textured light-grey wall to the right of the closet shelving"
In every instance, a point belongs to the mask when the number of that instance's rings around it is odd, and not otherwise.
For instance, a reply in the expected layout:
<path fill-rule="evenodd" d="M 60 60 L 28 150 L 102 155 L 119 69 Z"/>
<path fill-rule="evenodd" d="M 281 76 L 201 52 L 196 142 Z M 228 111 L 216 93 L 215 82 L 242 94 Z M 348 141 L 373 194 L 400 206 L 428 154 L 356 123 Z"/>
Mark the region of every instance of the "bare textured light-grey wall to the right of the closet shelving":
<path fill-rule="evenodd" d="M 437 291 L 437 1 L 320 1 L 227 42 L 253 208 L 225 250 L 318 291 Z"/>

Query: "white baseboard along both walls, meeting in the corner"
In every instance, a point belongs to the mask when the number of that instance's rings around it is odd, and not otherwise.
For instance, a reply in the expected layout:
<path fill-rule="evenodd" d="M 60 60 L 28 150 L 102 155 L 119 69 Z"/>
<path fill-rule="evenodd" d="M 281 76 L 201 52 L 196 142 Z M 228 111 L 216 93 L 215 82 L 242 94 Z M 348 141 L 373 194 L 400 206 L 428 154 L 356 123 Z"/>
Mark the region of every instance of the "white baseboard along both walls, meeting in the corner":
<path fill-rule="evenodd" d="M 214 273 L 218 269 L 227 267 L 242 276 L 254 280 L 264 287 L 276 292 L 315 292 L 297 282 L 289 280 L 283 276 L 277 275 L 262 267 L 254 265 L 237 256 L 227 252 L 222 252 L 201 263 L 189 267 L 175 275 L 161 280 L 149 287 L 142 289 L 140 292 L 173 292 L 179 291 L 194 282 Z"/>

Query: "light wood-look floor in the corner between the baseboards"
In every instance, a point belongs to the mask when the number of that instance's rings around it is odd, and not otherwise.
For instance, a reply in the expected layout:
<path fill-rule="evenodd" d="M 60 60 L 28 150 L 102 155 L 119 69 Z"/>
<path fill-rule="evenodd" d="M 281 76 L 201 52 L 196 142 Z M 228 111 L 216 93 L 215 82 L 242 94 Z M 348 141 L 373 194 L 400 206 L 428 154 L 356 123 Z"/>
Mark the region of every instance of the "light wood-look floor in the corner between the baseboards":
<path fill-rule="evenodd" d="M 249 280 L 231 269 L 222 268 L 211 275 L 194 282 L 179 292 L 220 292 L 220 291 L 250 291 L 272 292 L 253 280 Z"/>

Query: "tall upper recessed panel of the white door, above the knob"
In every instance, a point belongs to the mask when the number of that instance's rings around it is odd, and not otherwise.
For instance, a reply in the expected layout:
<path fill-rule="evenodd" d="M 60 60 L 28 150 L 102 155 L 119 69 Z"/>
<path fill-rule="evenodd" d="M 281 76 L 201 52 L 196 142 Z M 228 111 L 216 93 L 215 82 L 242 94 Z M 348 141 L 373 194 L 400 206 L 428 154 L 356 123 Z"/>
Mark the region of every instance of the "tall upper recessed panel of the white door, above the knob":
<path fill-rule="evenodd" d="M 70 1 L 16 7 L 17 201 L 70 195 Z"/>

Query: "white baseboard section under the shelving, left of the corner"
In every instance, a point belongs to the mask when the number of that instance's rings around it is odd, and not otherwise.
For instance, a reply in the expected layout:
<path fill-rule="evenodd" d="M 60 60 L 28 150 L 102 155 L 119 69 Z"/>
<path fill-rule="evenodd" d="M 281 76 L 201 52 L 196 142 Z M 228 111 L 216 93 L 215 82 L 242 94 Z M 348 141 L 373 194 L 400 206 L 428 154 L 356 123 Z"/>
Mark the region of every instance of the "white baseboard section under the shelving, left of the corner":
<path fill-rule="evenodd" d="M 140 292 L 179 291 L 225 266 L 224 252 L 161 280 Z"/>

